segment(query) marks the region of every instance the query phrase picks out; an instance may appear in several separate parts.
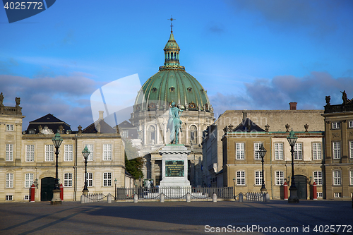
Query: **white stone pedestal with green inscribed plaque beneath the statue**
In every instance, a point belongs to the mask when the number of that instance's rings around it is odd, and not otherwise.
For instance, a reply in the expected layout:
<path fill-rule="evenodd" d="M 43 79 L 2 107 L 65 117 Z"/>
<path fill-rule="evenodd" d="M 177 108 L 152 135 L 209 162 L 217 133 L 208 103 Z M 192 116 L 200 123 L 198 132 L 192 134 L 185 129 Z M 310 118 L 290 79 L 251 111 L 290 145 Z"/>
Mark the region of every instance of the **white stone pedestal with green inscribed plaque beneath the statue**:
<path fill-rule="evenodd" d="M 188 150 L 184 145 L 166 145 L 160 150 L 162 155 L 162 181 L 160 188 L 190 187 L 188 180 Z"/>

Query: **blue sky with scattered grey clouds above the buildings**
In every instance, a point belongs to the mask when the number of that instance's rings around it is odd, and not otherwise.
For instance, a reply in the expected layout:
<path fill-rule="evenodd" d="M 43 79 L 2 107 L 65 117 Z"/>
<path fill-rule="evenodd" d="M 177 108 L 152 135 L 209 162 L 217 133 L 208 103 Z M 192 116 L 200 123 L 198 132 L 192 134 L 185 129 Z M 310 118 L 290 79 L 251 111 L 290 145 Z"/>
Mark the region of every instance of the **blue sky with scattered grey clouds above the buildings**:
<path fill-rule="evenodd" d="M 0 9 L 0 92 L 23 129 L 51 113 L 92 123 L 90 95 L 163 65 L 173 15 L 180 62 L 227 109 L 323 109 L 353 98 L 353 1 L 68 1 L 8 23 Z M 137 91 L 136 91 L 137 94 Z"/>

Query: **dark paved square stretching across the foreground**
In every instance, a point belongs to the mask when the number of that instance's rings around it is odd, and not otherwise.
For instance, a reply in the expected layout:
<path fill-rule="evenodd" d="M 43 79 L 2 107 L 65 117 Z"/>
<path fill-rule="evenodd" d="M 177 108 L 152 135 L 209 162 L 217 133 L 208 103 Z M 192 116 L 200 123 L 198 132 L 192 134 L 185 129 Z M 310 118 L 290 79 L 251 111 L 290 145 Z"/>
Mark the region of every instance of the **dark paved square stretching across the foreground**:
<path fill-rule="evenodd" d="M 333 227 L 327 229 L 325 225 Z M 342 232 L 343 227 L 337 231 L 337 225 L 349 225 L 350 233 L 347 233 L 349 227 L 345 228 L 345 232 Z M 313 231 L 315 226 L 317 232 Z M 1 235 L 222 234 L 217 232 L 222 227 L 233 234 L 353 235 L 352 226 L 353 208 L 349 201 L 301 200 L 297 205 L 284 200 L 271 200 L 270 203 L 223 201 L 0 204 Z M 280 232 L 281 228 L 287 231 Z M 303 232 L 304 228 L 309 229 L 309 232 Z M 325 229 L 328 232 L 320 232 Z"/>

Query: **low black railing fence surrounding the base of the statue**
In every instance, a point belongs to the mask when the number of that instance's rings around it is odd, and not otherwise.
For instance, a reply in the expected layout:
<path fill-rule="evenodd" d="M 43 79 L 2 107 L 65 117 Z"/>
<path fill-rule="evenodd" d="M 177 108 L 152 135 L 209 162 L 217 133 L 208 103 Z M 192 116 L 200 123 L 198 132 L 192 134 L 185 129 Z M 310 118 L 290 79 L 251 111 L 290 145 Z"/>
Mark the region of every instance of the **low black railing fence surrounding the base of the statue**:
<path fill-rule="evenodd" d="M 191 188 L 191 187 L 163 187 L 163 188 L 116 188 L 116 200 L 133 199 L 133 195 L 137 194 L 138 199 L 160 199 L 160 195 L 164 194 L 166 199 L 186 198 L 190 193 L 191 199 L 209 199 L 213 197 L 213 193 L 217 198 L 231 199 L 234 198 L 233 187 L 222 188 Z"/>

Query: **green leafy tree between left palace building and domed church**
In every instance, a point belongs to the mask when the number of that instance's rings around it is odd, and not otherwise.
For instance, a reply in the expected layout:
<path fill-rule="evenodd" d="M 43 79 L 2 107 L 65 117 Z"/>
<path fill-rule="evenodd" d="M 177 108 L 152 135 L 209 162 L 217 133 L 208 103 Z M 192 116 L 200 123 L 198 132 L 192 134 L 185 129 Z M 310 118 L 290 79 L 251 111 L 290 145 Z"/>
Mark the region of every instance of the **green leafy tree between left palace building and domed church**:
<path fill-rule="evenodd" d="M 125 140 L 125 169 L 133 178 L 143 178 L 143 157 L 138 157 L 138 147 L 134 146 L 131 140 Z"/>

